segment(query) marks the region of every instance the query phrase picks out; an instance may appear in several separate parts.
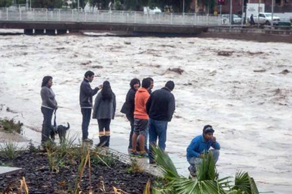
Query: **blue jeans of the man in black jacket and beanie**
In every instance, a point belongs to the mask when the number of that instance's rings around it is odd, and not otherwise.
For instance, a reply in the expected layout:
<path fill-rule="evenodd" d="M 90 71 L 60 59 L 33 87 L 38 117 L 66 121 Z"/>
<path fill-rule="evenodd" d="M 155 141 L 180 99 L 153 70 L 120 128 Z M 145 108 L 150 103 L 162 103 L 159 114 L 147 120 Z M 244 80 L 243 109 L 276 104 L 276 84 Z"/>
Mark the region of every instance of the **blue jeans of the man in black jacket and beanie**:
<path fill-rule="evenodd" d="M 166 131 L 168 121 L 157 121 L 149 119 L 149 161 L 152 162 L 154 157 L 152 155 L 151 145 L 156 145 L 158 138 L 158 146 L 164 151 L 166 142 Z"/>

